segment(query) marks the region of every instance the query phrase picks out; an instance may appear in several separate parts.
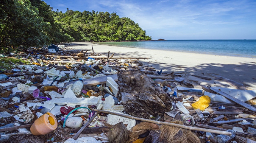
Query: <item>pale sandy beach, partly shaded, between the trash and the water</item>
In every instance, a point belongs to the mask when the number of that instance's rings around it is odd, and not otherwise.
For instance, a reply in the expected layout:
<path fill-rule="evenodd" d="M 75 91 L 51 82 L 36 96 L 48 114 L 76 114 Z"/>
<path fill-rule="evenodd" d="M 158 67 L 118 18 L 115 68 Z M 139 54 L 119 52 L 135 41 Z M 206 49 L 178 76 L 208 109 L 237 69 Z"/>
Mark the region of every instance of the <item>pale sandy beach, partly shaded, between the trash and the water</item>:
<path fill-rule="evenodd" d="M 72 44 L 75 45 L 69 45 L 68 48 L 91 50 L 93 45 L 94 51 L 103 55 L 107 55 L 110 51 L 110 55 L 114 53 L 115 57 L 147 57 L 150 59 L 139 61 L 156 70 L 190 72 L 185 76 L 208 76 L 209 73 L 214 73 L 256 90 L 255 58 L 109 46 L 91 42 L 73 42 Z"/>

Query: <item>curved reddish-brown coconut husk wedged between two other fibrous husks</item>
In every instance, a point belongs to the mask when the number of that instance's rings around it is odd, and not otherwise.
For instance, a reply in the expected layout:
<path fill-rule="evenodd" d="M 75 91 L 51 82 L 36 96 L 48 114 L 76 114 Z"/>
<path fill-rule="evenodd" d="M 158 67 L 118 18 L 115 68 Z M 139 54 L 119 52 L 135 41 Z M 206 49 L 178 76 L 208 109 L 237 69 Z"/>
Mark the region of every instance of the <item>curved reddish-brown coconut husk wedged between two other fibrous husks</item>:
<path fill-rule="evenodd" d="M 150 122 L 141 122 L 140 124 L 132 128 L 132 132 L 129 135 L 130 137 L 129 142 L 136 141 L 139 135 L 142 135 L 143 133 L 150 130 L 159 130 L 159 126 L 157 124 L 150 123 Z"/>

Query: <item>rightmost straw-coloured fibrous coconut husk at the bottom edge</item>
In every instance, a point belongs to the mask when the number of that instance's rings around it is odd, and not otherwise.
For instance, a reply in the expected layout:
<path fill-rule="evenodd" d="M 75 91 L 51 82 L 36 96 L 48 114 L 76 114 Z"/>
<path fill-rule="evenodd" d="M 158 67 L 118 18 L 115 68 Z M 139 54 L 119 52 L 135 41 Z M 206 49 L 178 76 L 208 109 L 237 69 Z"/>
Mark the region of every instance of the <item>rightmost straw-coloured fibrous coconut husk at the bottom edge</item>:
<path fill-rule="evenodd" d="M 171 123 L 183 125 L 182 121 Z M 162 143 L 200 143 L 200 139 L 190 130 L 167 125 L 161 125 L 159 141 Z"/>

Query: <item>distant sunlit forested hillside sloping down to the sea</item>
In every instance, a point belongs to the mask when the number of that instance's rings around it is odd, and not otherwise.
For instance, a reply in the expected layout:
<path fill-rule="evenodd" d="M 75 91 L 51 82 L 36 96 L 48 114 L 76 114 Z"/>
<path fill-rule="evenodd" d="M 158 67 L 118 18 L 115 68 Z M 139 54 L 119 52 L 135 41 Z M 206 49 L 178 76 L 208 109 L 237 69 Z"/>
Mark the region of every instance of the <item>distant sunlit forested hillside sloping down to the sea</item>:
<path fill-rule="evenodd" d="M 130 18 L 95 11 L 54 12 L 54 19 L 74 41 L 151 40 L 146 31 Z"/>

